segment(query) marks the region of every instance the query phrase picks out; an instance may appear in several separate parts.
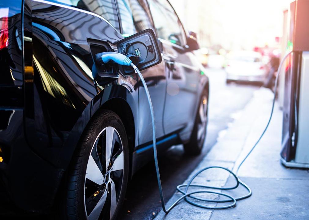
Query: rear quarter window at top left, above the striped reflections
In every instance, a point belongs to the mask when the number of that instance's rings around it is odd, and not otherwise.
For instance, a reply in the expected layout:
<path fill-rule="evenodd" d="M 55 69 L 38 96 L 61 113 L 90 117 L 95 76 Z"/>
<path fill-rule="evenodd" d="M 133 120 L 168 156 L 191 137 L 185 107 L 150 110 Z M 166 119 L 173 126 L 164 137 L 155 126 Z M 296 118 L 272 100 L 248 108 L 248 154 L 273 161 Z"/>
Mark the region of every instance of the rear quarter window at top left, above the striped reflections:
<path fill-rule="evenodd" d="M 49 0 L 49 2 L 58 2 L 93 12 L 106 19 L 112 24 L 112 26 L 120 31 L 117 9 L 114 0 Z"/>

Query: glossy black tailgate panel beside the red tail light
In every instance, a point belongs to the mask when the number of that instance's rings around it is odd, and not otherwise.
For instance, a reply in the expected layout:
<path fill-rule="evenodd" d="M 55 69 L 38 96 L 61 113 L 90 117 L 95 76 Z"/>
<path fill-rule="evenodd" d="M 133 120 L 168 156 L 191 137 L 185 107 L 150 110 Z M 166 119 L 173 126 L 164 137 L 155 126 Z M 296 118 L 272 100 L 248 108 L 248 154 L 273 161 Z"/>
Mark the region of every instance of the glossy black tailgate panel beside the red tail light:
<path fill-rule="evenodd" d="M 21 107 L 23 106 L 22 1 L 2 1 L 0 8 L 8 10 L 9 16 L 9 44 L 7 48 L 0 49 L 0 106 Z"/>

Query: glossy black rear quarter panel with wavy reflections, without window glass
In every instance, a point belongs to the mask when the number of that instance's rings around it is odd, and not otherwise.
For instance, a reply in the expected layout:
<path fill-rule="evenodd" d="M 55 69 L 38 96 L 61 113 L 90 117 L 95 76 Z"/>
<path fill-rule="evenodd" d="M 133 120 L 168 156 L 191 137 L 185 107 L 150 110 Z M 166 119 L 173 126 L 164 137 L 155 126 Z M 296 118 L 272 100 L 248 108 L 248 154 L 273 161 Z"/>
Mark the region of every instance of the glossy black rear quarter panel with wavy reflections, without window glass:
<path fill-rule="evenodd" d="M 34 83 L 26 96 L 35 102 L 26 133 L 33 150 L 57 167 L 68 165 L 65 155 L 74 151 L 91 117 L 83 112 L 91 111 L 97 95 L 87 39 L 116 43 L 122 36 L 95 15 L 32 1 Z M 104 89 L 109 86 L 97 88 L 104 90 L 99 96 L 112 98 Z"/>

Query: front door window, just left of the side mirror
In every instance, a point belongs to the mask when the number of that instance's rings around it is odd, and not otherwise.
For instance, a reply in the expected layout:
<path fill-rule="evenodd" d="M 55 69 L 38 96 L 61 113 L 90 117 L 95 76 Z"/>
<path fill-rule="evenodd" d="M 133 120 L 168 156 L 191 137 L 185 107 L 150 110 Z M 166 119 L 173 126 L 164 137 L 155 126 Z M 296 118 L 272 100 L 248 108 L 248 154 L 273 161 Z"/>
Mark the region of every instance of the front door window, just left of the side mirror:
<path fill-rule="evenodd" d="M 148 2 L 159 38 L 184 46 L 184 30 L 171 5 L 166 0 Z"/>

